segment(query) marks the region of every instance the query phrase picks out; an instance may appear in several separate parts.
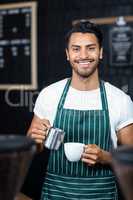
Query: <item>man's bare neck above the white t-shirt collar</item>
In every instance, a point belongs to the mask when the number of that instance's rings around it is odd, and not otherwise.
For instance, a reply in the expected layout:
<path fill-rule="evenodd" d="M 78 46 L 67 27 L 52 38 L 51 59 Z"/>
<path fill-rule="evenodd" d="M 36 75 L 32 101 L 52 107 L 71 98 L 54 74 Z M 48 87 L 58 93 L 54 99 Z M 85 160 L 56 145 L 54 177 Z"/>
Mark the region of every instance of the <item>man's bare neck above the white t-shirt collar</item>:
<path fill-rule="evenodd" d="M 77 74 L 72 75 L 71 86 L 77 90 L 95 90 L 99 88 L 99 77 L 98 72 L 96 71 L 93 76 L 89 76 L 87 78 L 81 77 Z"/>

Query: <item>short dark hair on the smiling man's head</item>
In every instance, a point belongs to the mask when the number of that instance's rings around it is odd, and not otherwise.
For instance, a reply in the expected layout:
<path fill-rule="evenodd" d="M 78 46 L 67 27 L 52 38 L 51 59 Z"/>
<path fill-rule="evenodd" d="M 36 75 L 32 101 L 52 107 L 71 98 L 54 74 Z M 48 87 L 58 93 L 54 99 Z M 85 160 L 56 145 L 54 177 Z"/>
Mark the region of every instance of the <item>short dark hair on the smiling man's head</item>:
<path fill-rule="evenodd" d="M 99 26 L 88 20 L 79 20 L 74 25 L 72 25 L 71 29 L 68 31 L 68 33 L 65 36 L 66 48 L 68 48 L 68 43 L 69 43 L 72 33 L 77 33 L 77 32 L 78 33 L 93 33 L 98 39 L 99 46 L 102 47 L 103 34 Z"/>

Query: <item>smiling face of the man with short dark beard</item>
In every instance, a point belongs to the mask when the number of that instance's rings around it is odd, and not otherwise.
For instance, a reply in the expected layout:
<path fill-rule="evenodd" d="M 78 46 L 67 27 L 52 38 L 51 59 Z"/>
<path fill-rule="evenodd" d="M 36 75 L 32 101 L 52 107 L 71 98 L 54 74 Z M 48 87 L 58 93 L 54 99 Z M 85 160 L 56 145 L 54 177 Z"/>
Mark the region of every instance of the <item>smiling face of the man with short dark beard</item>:
<path fill-rule="evenodd" d="M 102 59 L 102 48 L 93 33 L 72 33 L 66 49 L 73 75 L 88 78 L 97 70 L 99 59 Z"/>

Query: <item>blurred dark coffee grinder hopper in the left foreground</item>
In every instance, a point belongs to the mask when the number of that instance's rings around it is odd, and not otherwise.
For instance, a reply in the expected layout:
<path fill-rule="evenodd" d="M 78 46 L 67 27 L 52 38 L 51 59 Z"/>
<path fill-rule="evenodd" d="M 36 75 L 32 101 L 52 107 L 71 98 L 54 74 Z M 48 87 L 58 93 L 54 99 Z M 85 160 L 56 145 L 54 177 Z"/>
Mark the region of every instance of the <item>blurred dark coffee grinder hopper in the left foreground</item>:
<path fill-rule="evenodd" d="M 0 135 L 0 200 L 15 200 L 35 152 L 31 138 Z"/>

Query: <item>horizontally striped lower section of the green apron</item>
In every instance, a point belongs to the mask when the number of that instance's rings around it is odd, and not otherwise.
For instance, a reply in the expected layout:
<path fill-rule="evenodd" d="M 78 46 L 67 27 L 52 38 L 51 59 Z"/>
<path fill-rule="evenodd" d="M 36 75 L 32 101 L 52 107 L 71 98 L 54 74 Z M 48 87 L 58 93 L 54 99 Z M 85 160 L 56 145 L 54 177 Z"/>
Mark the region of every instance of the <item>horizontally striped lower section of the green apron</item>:
<path fill-rule="evenodd" d="M 104 187 L 103 187 L 104 184 Z M 55 174 L 47 174 L 45 178 L 45 192 L 42 199 L 117 199 L 116 185 L 113 176 L 107 177 L 87 177 L 79 178 L 71 176 L 61 176 Z M 47 196 L 47 198 L 46 198 Z M 114 198 L 115 197 L 115 198 Z"/>

